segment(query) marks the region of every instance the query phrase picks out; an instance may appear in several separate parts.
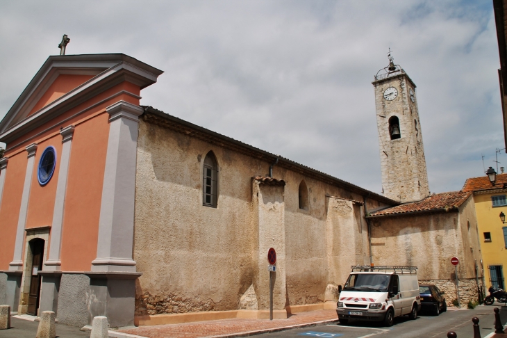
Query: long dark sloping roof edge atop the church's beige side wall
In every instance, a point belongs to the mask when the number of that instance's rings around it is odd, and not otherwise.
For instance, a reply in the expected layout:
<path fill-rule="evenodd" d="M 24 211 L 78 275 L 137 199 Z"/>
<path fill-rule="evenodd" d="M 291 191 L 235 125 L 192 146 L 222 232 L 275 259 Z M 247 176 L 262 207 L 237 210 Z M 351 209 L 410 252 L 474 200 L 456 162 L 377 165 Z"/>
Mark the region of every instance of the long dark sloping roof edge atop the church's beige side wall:
<path fill-rule="evenodd" d="M 399 202 L 391 200 L 390 198 L 386 198 L 385 196 L 379 195 L 378 193 L 374 193 L 373 191 L 369 191 L 365 188 L 361 188 L 360 186 L 356 186 L 355 184 L 351 184 L 342 179 L 327 175 L 322 171 L 304 166 L 297 162 L 291 161 L 290 159 L 286 159 L 283 156 L 271 154 L 270 152 L 260 150 L 259 148 L 248 145 L 247 143 L 242 143 L 241 141 L 235 140 L 234 138 L 230 138 L 228 136 L 218 134 L 215 131 L 199 127 L 197 124 L 181 120 L 181 118 L 176 118 L 175 116 L 164 113 L 163 111 L 159 111 L 158 109 L 151 106 L 142 107 L 144 108 L 144 114 L 142 115 L 142 119 L 144 121 L 158 124 L 161 127 L 172 129 L 174 131 L 178 131 L 179 133 L 192 136 L 194 138 L 199 138 L 201 140 L 205 140 L 208 143 L 219 145 L 220 147 L 226 147 L 230 150 L 240 152 L 241 154 L 246 154 L 247 156 L 253 156 L 257 159 L 261 159 L 269 163 L 274 163 L 274 161 L 278 159 L 279 161 L 276 164 L 277 167 L 279 166 L 281 168 L 293 170 L 294 172 L 299 172 L 303 175 L 312 177 L 313 179 L 317 179 L 320 182 L 324 182 L 326 184 L 339 186 L 340 188 L 346 188 L 349 191 L 367 196 L 368 198 L 372 198 L 372 200 L 377 200 L 385 204 L 399 204 Z"/>

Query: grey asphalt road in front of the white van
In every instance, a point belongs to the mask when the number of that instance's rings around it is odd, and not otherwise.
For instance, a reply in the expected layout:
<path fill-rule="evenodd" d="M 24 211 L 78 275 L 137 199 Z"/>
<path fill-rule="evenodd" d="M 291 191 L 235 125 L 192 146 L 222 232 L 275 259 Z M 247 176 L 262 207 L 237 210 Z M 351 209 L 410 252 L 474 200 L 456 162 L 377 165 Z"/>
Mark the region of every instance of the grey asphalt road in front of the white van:
<path fill-rule="evenodd" d="M 332 325 L 317 325 L 310 328 L 300 328 L 283 332 L 274 332 L 257 337 L 341 337 L 365 338 L 379 336 L 379 338 L 444 338 L 447 332 L 454 331 L 458 338 L 473 337 L 472 318 L 479 318 L 481 337 L 486 337 L 494 331 L 494 312 L 492 306 L 478 306 L 475 309 L 449 309 L 440 316 L 420 314 L 415 321 L 407 316 L 395 319 L 391 328 L 384 328 L 377 323 L 365 321 L 350 321 L 348 325 L 339 323 Z M 502 309 L 502 323 L 507 322 L 507 309 Z M 376 338 L 376 337 L 375 337 Z"/>

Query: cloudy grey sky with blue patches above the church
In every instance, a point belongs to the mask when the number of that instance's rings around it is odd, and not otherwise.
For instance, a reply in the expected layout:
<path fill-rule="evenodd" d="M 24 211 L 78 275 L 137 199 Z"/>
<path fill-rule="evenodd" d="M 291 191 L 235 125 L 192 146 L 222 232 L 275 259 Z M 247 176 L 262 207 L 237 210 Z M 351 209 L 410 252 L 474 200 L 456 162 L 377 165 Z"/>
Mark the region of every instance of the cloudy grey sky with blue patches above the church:
<path fill-rule="evenodd" d="M 0 1 L 0 118 L 63 33 L 67 54 L 165 71 L 142 104 L 376 193 L 371 82 L 389 47 L 417 85 L 432 192 L 504 148 L 492 0 Z"/>

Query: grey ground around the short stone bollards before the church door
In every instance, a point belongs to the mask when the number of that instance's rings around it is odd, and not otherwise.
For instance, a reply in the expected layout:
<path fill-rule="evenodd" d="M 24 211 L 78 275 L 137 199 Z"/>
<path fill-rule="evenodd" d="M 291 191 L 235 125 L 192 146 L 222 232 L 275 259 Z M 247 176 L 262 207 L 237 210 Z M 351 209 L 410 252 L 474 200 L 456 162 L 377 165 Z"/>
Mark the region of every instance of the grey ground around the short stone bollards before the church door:
<path fill-rule="evenodd" d="M 38 321 L 26 321 L 10 317 L 10 329 L 0 330 L 1 338 L 35 338 L 37 334 Z M 88 337 L 90 332 L 82 332 L 74 326 L 56 324 L 56 337 Z"/>

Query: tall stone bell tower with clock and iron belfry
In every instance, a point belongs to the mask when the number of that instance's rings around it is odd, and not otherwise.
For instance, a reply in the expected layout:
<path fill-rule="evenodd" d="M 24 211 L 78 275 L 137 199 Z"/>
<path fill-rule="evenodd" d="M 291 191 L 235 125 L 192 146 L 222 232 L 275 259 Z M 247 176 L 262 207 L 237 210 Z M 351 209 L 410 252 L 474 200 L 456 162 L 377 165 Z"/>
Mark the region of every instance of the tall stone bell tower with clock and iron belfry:
<path fill-rule="evenodd" d="M 376 123 L 385 197 L 413 202 L 429 196 L 415 83 L 391 52 L 389 65 L 375 75 Z"/>

